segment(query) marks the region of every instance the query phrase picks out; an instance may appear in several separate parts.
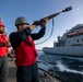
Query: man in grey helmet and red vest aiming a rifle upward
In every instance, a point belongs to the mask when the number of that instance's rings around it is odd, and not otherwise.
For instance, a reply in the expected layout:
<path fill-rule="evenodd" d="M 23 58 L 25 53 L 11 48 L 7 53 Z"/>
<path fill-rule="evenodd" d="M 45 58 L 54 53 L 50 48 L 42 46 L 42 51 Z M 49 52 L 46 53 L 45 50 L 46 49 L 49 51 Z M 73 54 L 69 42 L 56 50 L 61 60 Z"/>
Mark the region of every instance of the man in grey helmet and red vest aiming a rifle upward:
<path fill-rule="evenodd" d="M 16 82 L 39 82 L 37 68 L 37 51 L 34 40 L 39 39 L 45 34 L 46 22 L 40 24 L 42 28 L 36 34 L 31 32 L 36 27 L 36 23 L 28 25 L 25 17 L 20 16 L 15 21 L 17 32 L 10 34 L 10 42 L 15 51 L 16 59 Z"/>

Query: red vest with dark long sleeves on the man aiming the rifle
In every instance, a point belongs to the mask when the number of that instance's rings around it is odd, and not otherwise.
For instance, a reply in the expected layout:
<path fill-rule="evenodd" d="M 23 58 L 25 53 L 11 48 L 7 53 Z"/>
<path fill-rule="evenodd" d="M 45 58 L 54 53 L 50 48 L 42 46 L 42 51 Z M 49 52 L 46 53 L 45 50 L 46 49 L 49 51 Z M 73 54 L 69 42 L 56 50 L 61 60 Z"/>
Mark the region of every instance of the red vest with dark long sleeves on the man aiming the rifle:
<path fill-rule="evenodd" d="M 45 27 L 36 34 L 31 34 L 29 27 L 10 34 L 10 42 L 15 51 L 16 66 L 32 66 L 37 60 L 34 40 L 45 34 Z"/>

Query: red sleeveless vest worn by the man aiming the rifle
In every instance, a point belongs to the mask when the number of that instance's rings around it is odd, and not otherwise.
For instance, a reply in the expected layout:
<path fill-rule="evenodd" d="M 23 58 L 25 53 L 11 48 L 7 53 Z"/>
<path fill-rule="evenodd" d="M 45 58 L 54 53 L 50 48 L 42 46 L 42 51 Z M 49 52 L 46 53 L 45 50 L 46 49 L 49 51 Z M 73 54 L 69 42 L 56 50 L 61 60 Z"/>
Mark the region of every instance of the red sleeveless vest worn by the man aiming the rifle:
<path fill-rule="evenodd" d="M 36 62 L 37 51 L 33 39 L 27 37 L 17 48 L 14 48 L 14 51 L 17 66 L 31 66 Z"/>

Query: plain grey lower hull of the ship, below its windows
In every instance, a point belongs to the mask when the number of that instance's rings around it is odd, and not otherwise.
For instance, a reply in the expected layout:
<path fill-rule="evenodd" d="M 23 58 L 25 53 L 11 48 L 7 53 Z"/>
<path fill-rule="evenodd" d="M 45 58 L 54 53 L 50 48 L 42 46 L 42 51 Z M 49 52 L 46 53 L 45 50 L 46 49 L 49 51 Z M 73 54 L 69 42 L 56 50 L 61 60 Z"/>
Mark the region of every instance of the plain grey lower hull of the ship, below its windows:
<path fill-rule="evenodd" d="M 63 56 L 83 56 L 83 47 L 54 47 L 43 48 L 44 52 Z"/>

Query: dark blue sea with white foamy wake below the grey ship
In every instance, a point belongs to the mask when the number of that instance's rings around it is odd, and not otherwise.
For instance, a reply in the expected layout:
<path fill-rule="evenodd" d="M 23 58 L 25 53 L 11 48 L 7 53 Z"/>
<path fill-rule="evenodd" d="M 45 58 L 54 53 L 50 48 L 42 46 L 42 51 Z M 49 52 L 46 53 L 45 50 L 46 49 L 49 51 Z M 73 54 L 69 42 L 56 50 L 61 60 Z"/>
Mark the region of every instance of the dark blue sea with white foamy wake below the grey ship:
<path fill-rule="evenodd" d="M 83 57 L 50 55 L 38 51 L 38 67 L 66 82 L 83 82 Z"/>

